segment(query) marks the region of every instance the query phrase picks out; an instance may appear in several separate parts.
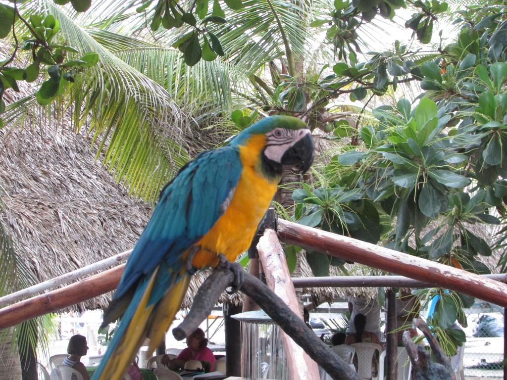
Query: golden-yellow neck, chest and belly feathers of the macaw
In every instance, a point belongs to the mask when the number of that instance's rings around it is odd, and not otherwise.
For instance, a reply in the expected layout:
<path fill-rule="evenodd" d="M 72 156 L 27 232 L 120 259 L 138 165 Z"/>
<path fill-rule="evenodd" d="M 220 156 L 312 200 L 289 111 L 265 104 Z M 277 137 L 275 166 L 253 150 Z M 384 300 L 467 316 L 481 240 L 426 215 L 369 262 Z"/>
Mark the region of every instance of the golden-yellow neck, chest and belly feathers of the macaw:
<path fill-rule="evenodd" d="M 278 184 L 278 178 L 268 179 L 260 172 L 259 152 L 264 143 L 262 135 L 240 146 L 243 169 L 239 182 L 225 213 L 196 244 L 203 249 L 194 257 L 195 267 L 215 265 L 216 253 L 223 253 L 229 261 L 234 261 L 249 247 Z"/>

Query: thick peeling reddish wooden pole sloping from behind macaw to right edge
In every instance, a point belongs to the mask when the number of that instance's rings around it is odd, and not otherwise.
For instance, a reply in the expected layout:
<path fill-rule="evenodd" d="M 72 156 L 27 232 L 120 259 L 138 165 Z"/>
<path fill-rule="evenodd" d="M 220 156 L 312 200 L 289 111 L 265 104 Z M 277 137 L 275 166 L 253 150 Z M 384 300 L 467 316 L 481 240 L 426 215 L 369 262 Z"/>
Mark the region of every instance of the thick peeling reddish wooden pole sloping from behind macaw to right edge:
<path fill-rule="evenodd" d="M 278 220 L 280 240 L 370 267 L 452 289 L 507 307 L 507 285 L 449 265 L 426 260 L 346 236 Z"/>

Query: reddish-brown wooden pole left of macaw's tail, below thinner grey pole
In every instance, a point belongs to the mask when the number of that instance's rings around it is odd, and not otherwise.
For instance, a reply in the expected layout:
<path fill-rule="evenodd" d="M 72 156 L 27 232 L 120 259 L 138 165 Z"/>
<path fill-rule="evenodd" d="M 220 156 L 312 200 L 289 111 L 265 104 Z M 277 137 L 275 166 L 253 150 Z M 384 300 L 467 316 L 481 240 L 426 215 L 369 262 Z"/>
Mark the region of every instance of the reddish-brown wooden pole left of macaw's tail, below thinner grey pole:
<path fill-rule="evenodd" d="M 0 330 L 114 290 L 120 282 L 124 269 L 125 264 L 121 264 L 64 288 L 0 309 Z"/>

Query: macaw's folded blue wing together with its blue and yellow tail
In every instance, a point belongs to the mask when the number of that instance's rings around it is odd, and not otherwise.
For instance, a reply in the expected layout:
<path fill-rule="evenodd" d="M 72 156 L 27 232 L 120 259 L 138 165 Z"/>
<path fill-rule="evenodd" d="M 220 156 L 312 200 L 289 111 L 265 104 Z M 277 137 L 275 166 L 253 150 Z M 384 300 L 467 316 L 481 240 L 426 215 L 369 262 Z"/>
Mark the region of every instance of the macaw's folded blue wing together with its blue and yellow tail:
<path fill-rule="evenodd" d="M 104 313 L 103 326 L 121 320 L 92 378 L 120 379 L 145 337 L 160 344 L 188 287 L 188 250 L 227 209 L 241 169 L 236 147 L 209 150 L 162 190 Z"/>

